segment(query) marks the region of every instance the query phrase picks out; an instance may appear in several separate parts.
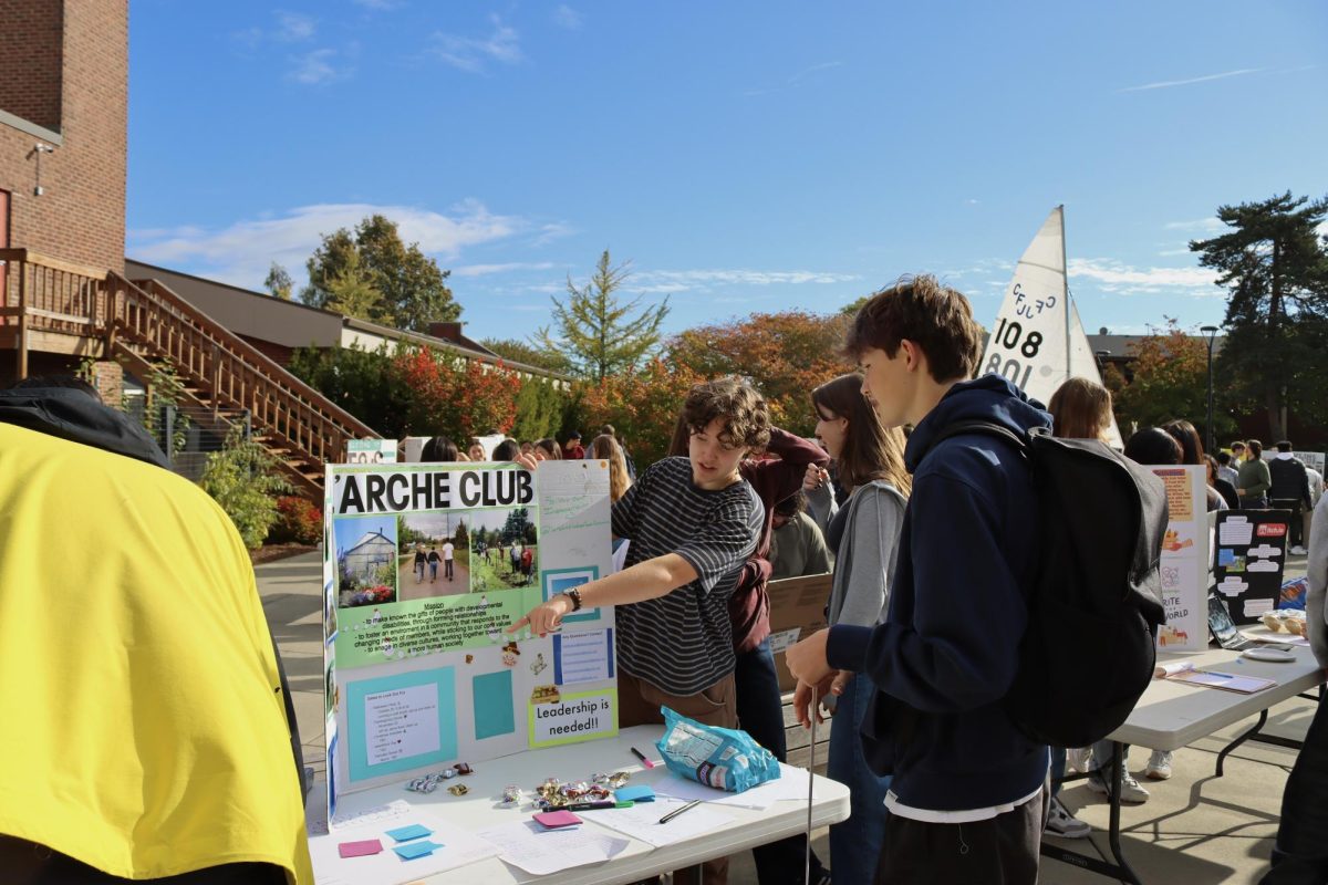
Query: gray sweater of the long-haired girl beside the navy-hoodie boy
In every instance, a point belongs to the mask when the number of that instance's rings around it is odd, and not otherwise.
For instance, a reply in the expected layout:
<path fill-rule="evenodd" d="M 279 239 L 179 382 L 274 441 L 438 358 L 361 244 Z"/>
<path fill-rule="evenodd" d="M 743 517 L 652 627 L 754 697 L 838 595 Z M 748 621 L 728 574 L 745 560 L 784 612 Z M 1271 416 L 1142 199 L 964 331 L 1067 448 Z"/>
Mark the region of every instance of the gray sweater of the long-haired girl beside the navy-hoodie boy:
<path fill-rule="evenodd" d="M 817 523 L 829 523 L 834 500 L 829 488 L 807 492 L 807 500 Z M 829 621 L 831 626 L 875 626 L 886 616 L 895 580 L 904 499 L 890 483 L 875 480 L 855 488 L 845 507 L 849 512 L 839 549 L 834 551 Z"/>

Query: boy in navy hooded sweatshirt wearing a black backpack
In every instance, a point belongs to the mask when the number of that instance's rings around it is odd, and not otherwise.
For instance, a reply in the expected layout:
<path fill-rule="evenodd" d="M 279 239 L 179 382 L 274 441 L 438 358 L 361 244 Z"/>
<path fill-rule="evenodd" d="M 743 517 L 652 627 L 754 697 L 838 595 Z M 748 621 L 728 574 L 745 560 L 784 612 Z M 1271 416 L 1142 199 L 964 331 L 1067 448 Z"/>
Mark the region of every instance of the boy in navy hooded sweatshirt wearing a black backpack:
<path fill-rule="evenodd" d="M 1032 476 L 1004 439 L 961 434 L 988 421 L 1025 435 L 1050 415 L 999 375 L 969 381 L 981 330 L 967 299 L 931 276 L 904 279 L 858 312 L 846 349 L 886 426 L 912 425 L 914 475 L 883 624 L 835 625 L 789 649 L 795 707 L 838 670 L 876 687 L 862 726 L 894 775 L 878 882 L 1036 882 L 1048 748 L 1001 707 L 1027 626 L 1038 520 Z"/>

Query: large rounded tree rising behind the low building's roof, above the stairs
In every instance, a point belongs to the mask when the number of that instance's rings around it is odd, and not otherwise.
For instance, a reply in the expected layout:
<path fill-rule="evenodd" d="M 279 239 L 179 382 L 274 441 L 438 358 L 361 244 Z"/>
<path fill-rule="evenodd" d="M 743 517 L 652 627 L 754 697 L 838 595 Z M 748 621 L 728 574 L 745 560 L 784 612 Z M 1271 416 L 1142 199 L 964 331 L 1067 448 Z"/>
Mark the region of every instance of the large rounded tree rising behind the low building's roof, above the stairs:
<path fill-rule="evenodd" d="M 349 305 L 352 316 L 412 332 L 461 318 L 446 285 L 450 271 L 440 269 L 417 243 L 406 245 L 397 223 L 382 215 L 365 218 L 355 231 L 343 227 L 325 235 L 307 267 L 304 304 Z"/>

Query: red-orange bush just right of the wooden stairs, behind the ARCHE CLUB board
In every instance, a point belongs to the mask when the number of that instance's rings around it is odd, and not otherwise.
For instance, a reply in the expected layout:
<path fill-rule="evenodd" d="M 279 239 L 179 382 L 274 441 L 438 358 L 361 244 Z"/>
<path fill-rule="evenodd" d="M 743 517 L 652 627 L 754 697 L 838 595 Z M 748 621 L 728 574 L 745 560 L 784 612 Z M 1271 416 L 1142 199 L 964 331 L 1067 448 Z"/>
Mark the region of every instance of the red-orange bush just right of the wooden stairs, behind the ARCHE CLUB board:
<path fill-rule="evenodd" d="M 413 348 L 393 357 L 393 372 L 409 390 L 404 427 L 409 435 L 446 434 L 461 442 L 505 434 L 517 421 L 521 377 L 501 362 L 461 361 Z"/>

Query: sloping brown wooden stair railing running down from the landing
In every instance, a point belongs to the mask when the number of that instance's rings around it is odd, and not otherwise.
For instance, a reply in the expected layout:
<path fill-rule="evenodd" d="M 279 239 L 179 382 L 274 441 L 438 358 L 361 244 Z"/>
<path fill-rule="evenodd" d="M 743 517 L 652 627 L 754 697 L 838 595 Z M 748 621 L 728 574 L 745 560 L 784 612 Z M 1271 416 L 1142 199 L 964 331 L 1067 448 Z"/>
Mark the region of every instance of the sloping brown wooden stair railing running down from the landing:
<path fill-rule="evenodd" d="M 258 348 L 155 280 L 145 287 L 106 275 L 108 336 L 139 356 L 166 358 L 216 406 L 247 409 L 258 434 L 321 467 L 337 462 L 348 439 L 372 427 L 272 362 Z M 117 342 L 117 337 L 122 341 Z"/>

